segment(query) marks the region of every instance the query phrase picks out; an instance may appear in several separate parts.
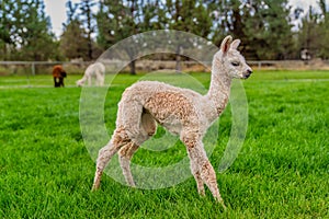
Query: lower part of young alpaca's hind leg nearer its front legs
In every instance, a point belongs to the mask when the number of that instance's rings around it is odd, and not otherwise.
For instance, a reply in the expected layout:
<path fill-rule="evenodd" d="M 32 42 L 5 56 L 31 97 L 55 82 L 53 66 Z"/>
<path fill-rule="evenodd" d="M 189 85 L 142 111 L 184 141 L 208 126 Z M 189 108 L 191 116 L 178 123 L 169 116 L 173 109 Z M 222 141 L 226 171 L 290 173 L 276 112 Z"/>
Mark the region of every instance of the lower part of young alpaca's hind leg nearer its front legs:
<path fill-rule="evenodd" d="M 138 146 L 131 142 L 122 147 L 118 151 L 120 165 L 123 171 L 123 175 L 127 182 L 127 184 L 132 187 L 136 187 L 132 171 L 131 171 L 131 160 L 133 154 L 137 151 Z"/>

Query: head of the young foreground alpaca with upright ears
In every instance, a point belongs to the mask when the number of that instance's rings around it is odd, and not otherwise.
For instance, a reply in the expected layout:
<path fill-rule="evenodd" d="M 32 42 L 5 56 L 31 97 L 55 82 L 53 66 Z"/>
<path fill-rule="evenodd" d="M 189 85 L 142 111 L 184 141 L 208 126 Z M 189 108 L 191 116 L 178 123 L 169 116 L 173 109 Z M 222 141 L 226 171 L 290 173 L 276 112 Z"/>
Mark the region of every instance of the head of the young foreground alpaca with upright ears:
<path fill-rule="evenodd" d="M 252 69 L 246 64 L 246 59 L 237 50 L 240 39 L 232 41 L 231 36 L 226 36 L 220 45 L 219 51 L 214 57 L 214 62 L 220 65 L 220 71 L 230 78 L 248 79 Z M 217 68 L 219 68 L 217 66 Z"/>

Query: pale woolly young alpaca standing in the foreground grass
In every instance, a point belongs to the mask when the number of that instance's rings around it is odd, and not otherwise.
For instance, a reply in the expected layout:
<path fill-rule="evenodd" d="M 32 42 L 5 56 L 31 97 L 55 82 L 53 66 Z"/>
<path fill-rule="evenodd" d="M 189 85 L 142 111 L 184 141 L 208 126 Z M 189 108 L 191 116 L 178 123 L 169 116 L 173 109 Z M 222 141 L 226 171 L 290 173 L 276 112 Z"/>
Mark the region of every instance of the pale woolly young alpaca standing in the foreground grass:
<path fill-rule="evenodd" d="M 185 145 L 198 193 L 205 195 L 206 184 L 225 208 L 202 139 L 226 107 L 232 78 L 247 79 L 252 72 L 237 50 L 240 41 L 232 42 L 231 36 L 223 41 L 219 51 L 214 55 L 206 95 L 156 81 L 140 81 L 126 89 L 118 104 L 116 129 L 110 142 L 99 151 L 93 189 L 99 188 L 103 170 L 117 151 L 125 180 L 135 186 L 131 159 L 139 146 L 155 135 L 158 123 L 178 134 Z"/>

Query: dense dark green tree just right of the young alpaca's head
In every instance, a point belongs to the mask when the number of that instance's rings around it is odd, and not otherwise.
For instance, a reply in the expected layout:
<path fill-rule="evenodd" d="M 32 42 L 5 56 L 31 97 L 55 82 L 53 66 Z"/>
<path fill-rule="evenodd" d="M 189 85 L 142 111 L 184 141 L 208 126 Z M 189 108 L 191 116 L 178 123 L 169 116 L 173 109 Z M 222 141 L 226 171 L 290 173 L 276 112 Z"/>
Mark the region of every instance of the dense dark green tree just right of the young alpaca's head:
<path fill-rule="evenodd" d="M 293 54 L 293 33 L 287 0 L 248 0 L 243 7 L 243 36 L 249 57 L 285 59 Z"/>

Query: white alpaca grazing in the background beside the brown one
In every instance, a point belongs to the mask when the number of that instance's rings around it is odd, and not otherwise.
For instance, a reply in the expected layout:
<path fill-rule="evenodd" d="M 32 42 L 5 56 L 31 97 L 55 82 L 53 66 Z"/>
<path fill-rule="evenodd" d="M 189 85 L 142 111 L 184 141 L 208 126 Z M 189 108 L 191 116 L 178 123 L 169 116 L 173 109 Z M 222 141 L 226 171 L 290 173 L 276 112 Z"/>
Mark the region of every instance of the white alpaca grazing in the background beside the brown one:
<path fill-rule="evenodd" d="M 78 87 L 82 87 L 88 80 L 88 85 L 91 85 L 91 78 L 95 78 L 95 85 L 104 85 L 105 79 L 105 67 L 101 62 L 95 62 L 90 65 L 86 71 L 82 79 L 77 81 Z"/>

